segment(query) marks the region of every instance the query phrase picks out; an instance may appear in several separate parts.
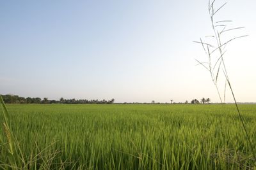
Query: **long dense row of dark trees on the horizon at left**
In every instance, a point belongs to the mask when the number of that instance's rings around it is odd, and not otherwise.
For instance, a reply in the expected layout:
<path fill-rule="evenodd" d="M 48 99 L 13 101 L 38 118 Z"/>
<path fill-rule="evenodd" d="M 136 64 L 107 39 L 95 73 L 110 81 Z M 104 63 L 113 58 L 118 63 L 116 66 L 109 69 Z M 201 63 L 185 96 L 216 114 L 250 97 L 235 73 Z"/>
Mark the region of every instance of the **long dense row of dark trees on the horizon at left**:
<path fill-rule="evenodd" d="M 3 97 L 4 103 L 17 103 L 17 104 L 112 104 L 115 99 L 111 100 L 88 100 L 88 99 L 64 99 L 63 97 L 60 100 L 49 100 L 47 97 L 41 99 L 40 97 L 20 97 L 17 95 L 1 95 Z"/>

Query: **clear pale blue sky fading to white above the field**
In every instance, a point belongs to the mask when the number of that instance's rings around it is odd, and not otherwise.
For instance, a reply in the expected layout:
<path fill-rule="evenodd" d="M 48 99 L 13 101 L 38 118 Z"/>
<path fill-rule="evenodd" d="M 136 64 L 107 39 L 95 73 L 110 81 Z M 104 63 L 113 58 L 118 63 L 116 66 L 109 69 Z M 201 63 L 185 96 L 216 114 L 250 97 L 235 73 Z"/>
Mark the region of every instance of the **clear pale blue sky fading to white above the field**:
<path fill-rule="evenodd" d="M 256 1 L 227 2 L 217 17 L 245 26 L 242 34 L 250 35 L 228 46 L 230 81 L 237 101 L 256 102 Z M 0 94 L 219 102 L 209 73 L 195 66 L 195 59 L 205 60 L 202 46 L 192 42 L 211 34 L 207 5 L 207 0 L 0 1 Z"/>

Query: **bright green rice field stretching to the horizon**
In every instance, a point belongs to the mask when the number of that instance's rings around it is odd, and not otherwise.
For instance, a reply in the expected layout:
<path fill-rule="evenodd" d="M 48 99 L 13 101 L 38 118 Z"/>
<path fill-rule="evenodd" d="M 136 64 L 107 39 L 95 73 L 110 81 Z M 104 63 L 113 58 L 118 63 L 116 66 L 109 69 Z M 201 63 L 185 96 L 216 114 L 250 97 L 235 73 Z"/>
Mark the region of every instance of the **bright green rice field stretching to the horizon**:
<path fill-rule="evenodd" d="M 1 128 L 3 169 L 253 169 L 255 163 L 234 105 L 6 107 L 17 153 L 9 153 Z M 239 107 L 256 148 L 256 105 Z M 0 120 L 3 127 L 3 113 Z"/>

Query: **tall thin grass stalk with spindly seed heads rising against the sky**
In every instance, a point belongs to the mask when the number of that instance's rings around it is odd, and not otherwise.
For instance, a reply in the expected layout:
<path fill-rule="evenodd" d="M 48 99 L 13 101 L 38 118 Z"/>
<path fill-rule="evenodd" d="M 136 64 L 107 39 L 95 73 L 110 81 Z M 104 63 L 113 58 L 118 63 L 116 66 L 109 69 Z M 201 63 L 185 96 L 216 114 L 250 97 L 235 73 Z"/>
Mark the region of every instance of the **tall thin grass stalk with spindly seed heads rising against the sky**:
<path fill-rule="evenodd" d="M 237 29 L 243 29 L 244 27 L 234 27 L 234 28 L 228 29 L 227 23 L 232 22 L 232 20 L 215 21 L 214 19 L 215 19 L 216 14 L 223 8 L 223 6 L 225 6 L 227 4 L 227 3 L 224 3 L 219 8 L 215 8 L 215 4 L 214 4 L 215 2 L 216 2 L 215 0 L 213 0 L 213 1 L 209 0 L 209 4 L 208 4 L 208 11 L 209 11 L 209 16 L 211 18 L 212 31 L 213 31 L 214 35 L 206 36 L 207 38 L 211 38 L 211 41 L 213 41 L 214 44 L 206 43 L 205 41 L 202 41 L 201 38 L 200 38 L 200 41 L 194 41 L 195 43 L 200 43 L 202 45 L 202 47 L 204 48 L 204 52 L 207 55 L 207 59 L 208 59 L 207 62 L 200 62 L 198 60 L 196 60 L 196 61 L 198 62 L 199 65 L 201 65 L 205 69 L 207 69 L 207 71 L 209 71 L 209 73 L 211 74 L 212 81 L 216 87 L 216 90 L 218 92 L 218 96 L 220 97 L 221 103 L 223 103 L 223 101 L 225 102 L 226 86 L 228 85 L 230 92 L 232 94 L 232 98 L 234 99 L 234 103 L 236 104 L 236 110 L 239 115 L 241 124 L 243 125 L 243 129 L 246 134 L 246 138 L 248 139 L 248 141 L 250 143 L 250 148 L 252 150 L 253 158 L 256 161 L 256 155 L 255 155 L 254 148 L 252 146 L 252 141 L 250 139 L 250 136 L 249 136 L 246 126 L 244 124 L 244 120 L 241 115 L 241 111 L 239 110 L 239 107 L 237 105 L 236 97 L 234 95 L 234 90 L 232 89 L 230 79 L 228 78 L 227 67 L 225 66 L 225 62 L 223 59 L 225 52 L 227 52 L 227 50 L 225 50 L 225 48 L 231 41 L 233 41 L 234 39 L 246 37 L 248 35 L 232 37 L 232 38 L 228 39 L 228 41 L 225 41 L 225 43 L 223 43 L 223 41 L 222 41 L 223 34 L 227 34 L 227 32 L 234 31 Z M 224 90 L 223 99 L 221 97 L 220 90 L 218 87 L 218 77 L 220 76 L 220 73 L 223 73 L 224 78 L 225 78 L 225 90 Z"/>

